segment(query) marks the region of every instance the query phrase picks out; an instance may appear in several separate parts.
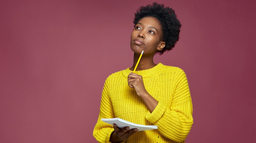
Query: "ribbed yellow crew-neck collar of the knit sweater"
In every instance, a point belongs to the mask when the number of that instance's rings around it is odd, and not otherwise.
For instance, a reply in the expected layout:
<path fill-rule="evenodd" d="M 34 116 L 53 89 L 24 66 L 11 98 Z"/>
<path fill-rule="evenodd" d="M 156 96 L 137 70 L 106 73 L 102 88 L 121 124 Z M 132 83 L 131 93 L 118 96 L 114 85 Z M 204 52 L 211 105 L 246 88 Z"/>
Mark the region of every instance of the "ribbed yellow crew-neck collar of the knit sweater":
<path fill-rule="evenodd" d="M 134 73 L 139 74 L 144 78 L 144 77 L 149 77 L 149 76 L 152 76 L 154 74 L 157 74 L 158 72 L 162 71 L 164 69 L 164 67 L 165 67 L 165 65 L 159 63 L 151 69 L 135 71 Z M 133 72 L 133 71 L 130 70 L 130 68 L 127 68 L 126 70 L 122 71 L 122 73 L 125 77 L 128 77 L 130 72 Z"/>

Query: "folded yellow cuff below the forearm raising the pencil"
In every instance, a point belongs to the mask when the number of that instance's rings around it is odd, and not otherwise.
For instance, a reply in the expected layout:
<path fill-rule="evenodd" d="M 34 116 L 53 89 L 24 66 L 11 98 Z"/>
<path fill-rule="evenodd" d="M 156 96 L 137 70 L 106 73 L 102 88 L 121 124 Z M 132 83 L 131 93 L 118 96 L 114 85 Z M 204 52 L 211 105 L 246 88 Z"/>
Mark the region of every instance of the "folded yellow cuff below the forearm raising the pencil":
<path fill-rule="evenodd" d="M 148 111 L 146 113 L 145 118 L 151 123 L 155 123 L 163 116 L 166 108 L 167 108 L 167 105 L 162 101 L 159 101 L 154 111 L 152 113 Z"/>

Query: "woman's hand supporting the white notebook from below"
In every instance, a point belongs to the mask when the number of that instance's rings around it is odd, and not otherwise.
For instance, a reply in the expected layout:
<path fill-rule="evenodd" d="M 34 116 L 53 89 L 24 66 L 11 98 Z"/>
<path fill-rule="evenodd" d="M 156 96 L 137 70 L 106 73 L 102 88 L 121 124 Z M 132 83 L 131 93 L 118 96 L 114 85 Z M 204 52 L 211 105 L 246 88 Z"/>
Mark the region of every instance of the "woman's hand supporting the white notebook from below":
<path fill-rule="evenodd" d="M 138 132 L 137 128 L 129 130 L 129 127 L 118 128 L 116 124 L 113 125 L 115 132 L 113 132 L 110 136 L 109 141 L 112 143 L 117 143 L 123 140 L 126 140 L 128 137 Z"/>

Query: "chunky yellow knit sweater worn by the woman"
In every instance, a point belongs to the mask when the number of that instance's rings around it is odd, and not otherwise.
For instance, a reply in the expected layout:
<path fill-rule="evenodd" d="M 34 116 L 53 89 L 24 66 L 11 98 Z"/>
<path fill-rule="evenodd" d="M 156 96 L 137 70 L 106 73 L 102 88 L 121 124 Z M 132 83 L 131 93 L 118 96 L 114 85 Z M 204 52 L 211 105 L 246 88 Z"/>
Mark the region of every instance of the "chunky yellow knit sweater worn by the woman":
<path fill-rule="evenodd" d="M 192 124 L 192 102 L 186 74 L 178 67 L 159 63 L 152 69 L 135 71 L 143 77 L 148 93 L 159 103 L 152 113 L 130 88 L 128 69 L 111 74 L 103 87 L 100 113 L 93 135 L 98 142 L 109 143 L 113 126 L 101 118 L 121 118 L 136 124 L 157 125 L 158 129 L 131 135 L 126 143 L 184 142 Z"/>

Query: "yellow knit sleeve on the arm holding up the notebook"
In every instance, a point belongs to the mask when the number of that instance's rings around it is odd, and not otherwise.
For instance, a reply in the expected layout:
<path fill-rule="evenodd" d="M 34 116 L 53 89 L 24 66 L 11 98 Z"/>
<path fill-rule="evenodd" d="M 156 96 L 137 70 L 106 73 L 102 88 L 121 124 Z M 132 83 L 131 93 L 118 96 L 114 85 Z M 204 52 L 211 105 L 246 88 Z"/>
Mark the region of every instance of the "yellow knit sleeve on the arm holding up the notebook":
<path fill-rule="evenodd" d="M 114 128 L 112 125 L 101 121 L 101 118 L 115 118 L 114 111 L 112 108 L 112 103 L 109 98 L 109 89 L 108 89 L 107 80 L 105 81 L 105 84 L 102 90 L 99 118 L 93 131 L 93 136 L 100 143 L 110 143 L 109 142 L 110 135 L 114 131 Z"/>

